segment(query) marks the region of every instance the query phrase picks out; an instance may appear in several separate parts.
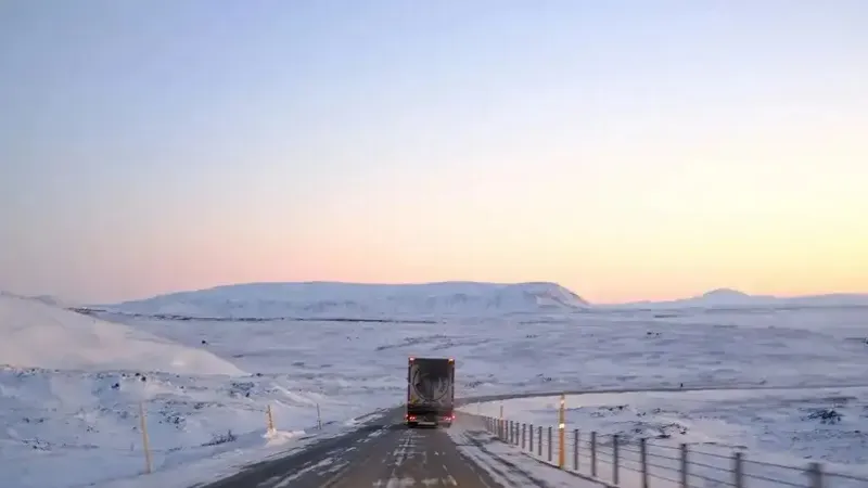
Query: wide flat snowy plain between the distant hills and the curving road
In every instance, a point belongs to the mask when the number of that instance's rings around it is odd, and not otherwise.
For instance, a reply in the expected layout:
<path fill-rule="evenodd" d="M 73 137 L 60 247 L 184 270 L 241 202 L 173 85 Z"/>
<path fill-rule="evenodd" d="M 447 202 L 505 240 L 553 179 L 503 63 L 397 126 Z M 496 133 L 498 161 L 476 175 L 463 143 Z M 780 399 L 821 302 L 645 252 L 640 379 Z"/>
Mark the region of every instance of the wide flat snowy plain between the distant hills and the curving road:
<path fill-rule="evenodd" d="M 202 347 L 251 373 L 286 375 L 304 389 L 375 388 L 399 401 L 409 355 L 456 357 L 460 395 L 680 383 L 861 385 L 868 383 L 866 310 L 538 313 L 437 324 L 106 317 Z"/>

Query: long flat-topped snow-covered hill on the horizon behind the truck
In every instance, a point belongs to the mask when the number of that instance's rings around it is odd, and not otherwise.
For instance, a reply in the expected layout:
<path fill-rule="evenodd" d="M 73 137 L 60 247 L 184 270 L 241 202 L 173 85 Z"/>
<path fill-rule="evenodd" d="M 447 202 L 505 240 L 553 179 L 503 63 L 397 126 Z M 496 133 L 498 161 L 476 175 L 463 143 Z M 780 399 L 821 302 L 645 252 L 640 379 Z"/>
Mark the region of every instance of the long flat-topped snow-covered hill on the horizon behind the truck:
<path fill-rule="evenodd" d="M 250 283 L 107 306 L 142 314 L 232 318 L 430 317 L 573 311 L 587 307 L 554 283 Z"/>

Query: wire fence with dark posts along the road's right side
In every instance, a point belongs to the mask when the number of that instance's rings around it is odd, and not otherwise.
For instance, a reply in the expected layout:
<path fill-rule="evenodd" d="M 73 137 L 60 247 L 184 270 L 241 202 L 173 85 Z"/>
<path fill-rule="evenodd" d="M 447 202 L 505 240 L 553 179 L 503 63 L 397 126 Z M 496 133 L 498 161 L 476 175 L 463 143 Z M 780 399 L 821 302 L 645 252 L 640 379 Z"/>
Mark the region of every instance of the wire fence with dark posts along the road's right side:
<path fill-rule="evenodd" d="M 462 412 L 469 421 L 525 454 L 615 488 L 868 488 L 868 478 L 826 471 L 820 463 L 788 466 L 715 453 L 695 446 L 567 431 Z M 563 424 L 561 424 L 563 425 Z"/>

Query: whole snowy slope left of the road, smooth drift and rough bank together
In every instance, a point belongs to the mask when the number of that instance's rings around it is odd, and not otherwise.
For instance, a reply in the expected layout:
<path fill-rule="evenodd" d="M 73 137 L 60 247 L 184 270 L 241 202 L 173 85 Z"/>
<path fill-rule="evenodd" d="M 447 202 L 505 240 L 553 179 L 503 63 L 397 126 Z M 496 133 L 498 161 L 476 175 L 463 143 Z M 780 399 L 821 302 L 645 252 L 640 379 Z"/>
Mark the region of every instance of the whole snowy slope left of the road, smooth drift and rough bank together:
<path fill-rule="evenodd" d="M 192 336 L 181 345 L 0 293 L 0 485 L 68 488 L 136 476 L 144 459 L 140 404 L 159 471 L 240 450 L 255 460 L 319 432 L 310 431 L 318 411 L 334 429 L 373 409 L 366 394 L 378 391 L 367 384 L 330 398 L 290 375 L 247 374 Z M 279 361 L 285 370 L 286 358 Z M 266 435 L 268 406 L 279 431 Z"/>

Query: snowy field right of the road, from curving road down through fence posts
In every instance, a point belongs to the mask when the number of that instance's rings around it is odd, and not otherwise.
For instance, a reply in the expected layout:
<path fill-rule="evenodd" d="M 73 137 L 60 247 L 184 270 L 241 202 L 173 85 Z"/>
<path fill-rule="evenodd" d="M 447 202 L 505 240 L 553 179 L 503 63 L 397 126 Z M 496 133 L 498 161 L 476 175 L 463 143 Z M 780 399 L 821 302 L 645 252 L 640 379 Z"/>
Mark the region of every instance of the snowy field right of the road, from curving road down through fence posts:
<path fill-rule="evenodd" d="M 553 432 L 557 461 L 559 404 L 560 396 L 474 403 L 462 410 L 499 418 L 502 408 L 505 419 L 534 431 L 532 449 L 521 448 L 520 440 L 519 447 L 507 449 L 550 462 L 548 431 Z M 612 480 L 617 436 L 621 486 L 640 486 L 640 439 L 647 441 L 654 488 L 678 486 L 681 444 L 689 452 L 691 487 L 731 483 L 735 452 L 743 455 L 742 470 L 752 488 L 808 488 L 809 462 L 822 464 L 828 488 L 868 486 L 865 387 L 567 395 L 565 406 L 565 467 L 590 476 L 593 432 L 597 476 Z M 576 429 L 579 447 L 574 451 Z"/>

